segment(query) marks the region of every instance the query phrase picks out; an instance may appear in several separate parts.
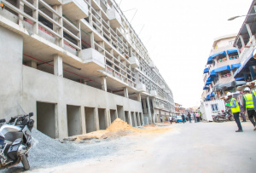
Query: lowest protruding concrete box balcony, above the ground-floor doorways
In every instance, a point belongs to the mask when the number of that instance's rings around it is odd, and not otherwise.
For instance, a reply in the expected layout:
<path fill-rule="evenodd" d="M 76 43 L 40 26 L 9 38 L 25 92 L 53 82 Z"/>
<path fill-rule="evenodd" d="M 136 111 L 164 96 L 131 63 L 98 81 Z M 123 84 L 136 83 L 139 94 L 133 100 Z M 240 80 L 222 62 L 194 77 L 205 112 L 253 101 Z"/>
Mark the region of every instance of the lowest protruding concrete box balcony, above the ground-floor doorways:
<path fill-rule="evenodd" d="M 79 58 L 81 58 L 84 63 L 95 65 L 97 70 L 105 68 L 104 56 L 96 51 L 96 49 L 89 48 L 81 50 Z"/>

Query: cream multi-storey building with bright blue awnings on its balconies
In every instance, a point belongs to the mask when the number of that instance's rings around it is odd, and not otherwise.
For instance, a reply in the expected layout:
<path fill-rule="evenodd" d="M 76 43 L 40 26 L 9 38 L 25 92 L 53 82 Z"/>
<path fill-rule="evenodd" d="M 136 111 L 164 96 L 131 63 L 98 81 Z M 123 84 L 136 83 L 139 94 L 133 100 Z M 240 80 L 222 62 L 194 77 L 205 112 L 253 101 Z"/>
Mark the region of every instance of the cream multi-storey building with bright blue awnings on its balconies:
<path fill-rule="evenodd" d="M 235 38 L 236 34 L 232 34 L 214 40 L 203 74 L 202 101 L 219 99 L 237 85 L 245 84 L 243 78 L 234 78 L 234 72 L 241 66 L 238 51 L 233 47 Z"/>

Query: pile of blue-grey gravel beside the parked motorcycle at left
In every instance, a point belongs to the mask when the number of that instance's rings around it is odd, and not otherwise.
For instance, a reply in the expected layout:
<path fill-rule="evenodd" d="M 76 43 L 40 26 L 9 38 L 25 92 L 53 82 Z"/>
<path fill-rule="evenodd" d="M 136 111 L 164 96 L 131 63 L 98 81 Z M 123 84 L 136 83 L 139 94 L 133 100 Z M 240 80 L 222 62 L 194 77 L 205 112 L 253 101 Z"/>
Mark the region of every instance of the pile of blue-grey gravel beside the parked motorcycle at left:
<path fill-rule="evenodd" d="M 32 130 L 33 147 L 29 153 L 30 170 L 49 168 L 83 159 L 94 159 L 108 156 L 118 151 L 115 141 L 94 140 L 86 143 L 65 142 L 45 136 L 38 130 Z M 22 164 L 0 172 L 20 172 Z"/>

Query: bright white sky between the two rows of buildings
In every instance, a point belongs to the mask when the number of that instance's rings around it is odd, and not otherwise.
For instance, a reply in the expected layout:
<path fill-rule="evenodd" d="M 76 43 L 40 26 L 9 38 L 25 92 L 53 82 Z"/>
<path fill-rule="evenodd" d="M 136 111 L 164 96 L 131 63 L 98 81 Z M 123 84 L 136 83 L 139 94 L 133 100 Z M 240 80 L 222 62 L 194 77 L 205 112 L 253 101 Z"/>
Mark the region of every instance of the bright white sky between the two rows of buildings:
<path fill-rule="evenodd" d="M 252 0 L 116 0 L 183 107 L 199 107 L 215 38 L 238 33 Z"/>

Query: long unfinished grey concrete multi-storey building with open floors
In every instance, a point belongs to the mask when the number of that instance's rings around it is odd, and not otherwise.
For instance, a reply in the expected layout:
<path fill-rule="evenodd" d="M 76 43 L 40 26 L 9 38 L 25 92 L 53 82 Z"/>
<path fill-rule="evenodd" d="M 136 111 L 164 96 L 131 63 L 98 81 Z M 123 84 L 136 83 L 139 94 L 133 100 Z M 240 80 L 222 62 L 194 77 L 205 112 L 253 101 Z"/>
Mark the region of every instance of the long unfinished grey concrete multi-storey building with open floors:
<path fill-rule="evenodd" d="M 0 114 L 51 137 L 172 115 L 172 90 L 113 0 L 2 0 Z"/>

